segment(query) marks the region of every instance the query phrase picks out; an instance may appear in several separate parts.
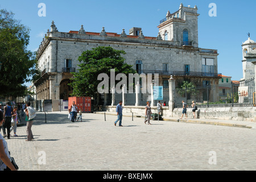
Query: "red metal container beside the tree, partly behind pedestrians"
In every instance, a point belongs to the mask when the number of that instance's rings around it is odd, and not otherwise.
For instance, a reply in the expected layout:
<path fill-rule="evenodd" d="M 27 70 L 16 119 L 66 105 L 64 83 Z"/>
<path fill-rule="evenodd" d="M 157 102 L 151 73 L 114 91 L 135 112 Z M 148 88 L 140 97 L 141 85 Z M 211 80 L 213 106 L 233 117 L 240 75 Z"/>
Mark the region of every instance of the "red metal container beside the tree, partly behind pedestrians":
<path fill-rule="evenodd" d="M 75 101 L 77 108 L 82 110 L 83 113 L 90 113 L 91 110 L 91 97 L 69 97 L 68 98 L 68 109 L 71 108 L 71 105 Z"/>

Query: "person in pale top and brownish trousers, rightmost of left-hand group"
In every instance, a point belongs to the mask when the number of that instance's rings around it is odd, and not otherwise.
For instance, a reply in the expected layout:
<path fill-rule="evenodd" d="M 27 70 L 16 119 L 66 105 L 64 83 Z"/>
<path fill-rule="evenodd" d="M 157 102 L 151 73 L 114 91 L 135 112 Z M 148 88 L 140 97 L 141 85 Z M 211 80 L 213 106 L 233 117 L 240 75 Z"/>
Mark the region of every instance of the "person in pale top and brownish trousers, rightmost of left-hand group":
<path fill-rule="evenodd" d="M 32 139 L 34 139 L 31 127 L 32 127 L 33 119 L 36 116 L 36 113 L 35 113 L 35 109 L 30 105 L 31 105 L 31 102 L 27 102 L 27 108 L 25 109 L 25 113 L 26 113 L 25 120 L 27 121 L 27 139 L 26 139 L 26 141 L 32 141 Z"/>

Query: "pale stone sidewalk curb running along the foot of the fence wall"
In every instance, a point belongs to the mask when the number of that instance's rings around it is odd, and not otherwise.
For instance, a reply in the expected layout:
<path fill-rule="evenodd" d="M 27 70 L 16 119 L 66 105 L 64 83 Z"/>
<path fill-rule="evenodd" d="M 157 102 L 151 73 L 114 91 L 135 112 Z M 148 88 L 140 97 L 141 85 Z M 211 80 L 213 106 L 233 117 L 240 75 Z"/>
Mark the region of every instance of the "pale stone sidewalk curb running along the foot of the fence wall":
<path fill-rule="evenodd" d="M 104 114 L 106 113 L 107 115 L 117 115 L 113 113 L 108 113 L 108 112 L 94 112 L 94 114 Z M 131 117 L 131 115 L 123 115 L 123 117 Z M 137 115 L 134 115 L 134 117 L 137 117 Z M 141 117 L 141 116 L 140 116 Z M 217 126 L 229 126 L 229 127 L 241 127 L 241 128 L 246 128 L 246 129 L 252 129 L 252 126 L 247 126 L 247 125 L 241 125 L 241 124 L 236 124 L 236 123 L 226 123 L 226 122 L 220 122 L 220 121 L 201 121 L 201 120 L 196 120 L 196 119 L 166 119 L 164 118 L 163 121 L 171 121 L 171 122 L 184 122 L 184 123 L 196 123 L 196 124 L 204 124 L 204 125 L 217 125 Z"/>

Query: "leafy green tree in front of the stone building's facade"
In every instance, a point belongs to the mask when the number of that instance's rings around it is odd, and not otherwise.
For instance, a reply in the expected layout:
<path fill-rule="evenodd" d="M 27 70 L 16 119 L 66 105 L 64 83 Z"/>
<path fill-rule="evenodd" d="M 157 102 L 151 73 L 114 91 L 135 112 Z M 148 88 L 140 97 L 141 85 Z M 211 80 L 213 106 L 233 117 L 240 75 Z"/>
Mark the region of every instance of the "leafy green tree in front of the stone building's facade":
<path fill-rule="evenodd" d="M 115 73 L 136 73 L 132 65 L 124 63 L 125 58 L 121 56 L 125 51 L 118 51 L 112 47 L 97 47 L 88 50 L 79 56 L 79 72 L 73 73 L 71 85 L 72 96 L 93 96 L 97 94 L 97 86 L 101 81 L 97 80 L 100 73 L 106 73 L 110 78 L 110 69 Z M 110 81 L 110 79 L 109 79 Z"/>

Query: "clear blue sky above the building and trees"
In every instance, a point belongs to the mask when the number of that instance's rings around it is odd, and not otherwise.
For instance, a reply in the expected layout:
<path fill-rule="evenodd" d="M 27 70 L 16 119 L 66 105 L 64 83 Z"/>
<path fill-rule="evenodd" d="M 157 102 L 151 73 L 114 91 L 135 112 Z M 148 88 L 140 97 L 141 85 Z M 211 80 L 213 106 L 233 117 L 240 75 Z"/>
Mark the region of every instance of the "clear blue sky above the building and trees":
<path fill-rule="evenodd" d="M 39 3 L 45 3 L 46 16 L 39 17 Z M 199 47 L 218 49 L 218 72 L 232 76 L 232 80 L 242 78 L 242 42 L 256 40 L 255 0 L 0 0 L 0 9 L 13 11 L 14 18 L 28 26 L 30 44 L 28 49 L 36 51 L 44 34 L 50 28 L 52 20 L 61 32 L 79 30 L 81 24 L 85 31 L 100 32 L 105 27 L 107 32 L 126 34 L 132 27 L 141 27 L 144 36 L 157 36 L 159 21 L 184 6 L 197 5 L 199 16 Z M 217 16 L 210 17 L 209 4 L 216 3 Z"/>

